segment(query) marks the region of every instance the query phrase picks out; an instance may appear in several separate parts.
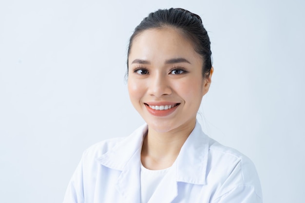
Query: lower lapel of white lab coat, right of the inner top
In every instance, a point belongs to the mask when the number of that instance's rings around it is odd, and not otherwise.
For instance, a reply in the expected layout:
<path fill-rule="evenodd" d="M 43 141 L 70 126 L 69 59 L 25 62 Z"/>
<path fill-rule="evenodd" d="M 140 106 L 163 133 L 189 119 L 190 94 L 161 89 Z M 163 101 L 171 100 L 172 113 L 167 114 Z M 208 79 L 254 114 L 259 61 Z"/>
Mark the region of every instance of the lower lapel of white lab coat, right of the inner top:
<path fill-rule="evenodd" d="M 176 181 L 176 162 L 166 173 L 163 180 L 152 194 L 148 203 L 171 203 L 178 195 Z"/>

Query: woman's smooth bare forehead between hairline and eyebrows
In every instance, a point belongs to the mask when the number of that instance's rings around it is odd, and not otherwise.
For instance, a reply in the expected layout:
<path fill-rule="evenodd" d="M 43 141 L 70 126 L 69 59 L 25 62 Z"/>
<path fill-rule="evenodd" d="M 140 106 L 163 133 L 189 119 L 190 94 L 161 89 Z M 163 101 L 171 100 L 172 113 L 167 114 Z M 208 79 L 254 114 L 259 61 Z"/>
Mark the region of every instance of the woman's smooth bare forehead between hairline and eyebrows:
<path fill-rule="evenodd" d="M 164 61 L 169 58 L 201 59 L 194 51 L 191 40 L 174 28 L 148 29 L 138 34 L 132 43 L 129 61 L 143 60 Z"/>

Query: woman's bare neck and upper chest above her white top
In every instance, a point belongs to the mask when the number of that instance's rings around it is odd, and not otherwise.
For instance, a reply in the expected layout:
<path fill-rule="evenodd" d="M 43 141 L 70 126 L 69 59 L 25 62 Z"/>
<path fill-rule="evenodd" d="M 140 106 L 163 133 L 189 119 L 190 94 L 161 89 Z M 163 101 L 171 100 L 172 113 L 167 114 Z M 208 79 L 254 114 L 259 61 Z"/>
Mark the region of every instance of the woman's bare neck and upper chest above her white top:
<path fill-rule="evenodd" d="M 171 167 L 195 123 L 192 121 L 169 132 L 157 132 L 149 127 L 141 151 L 143 166 L 152 170 Z"/>

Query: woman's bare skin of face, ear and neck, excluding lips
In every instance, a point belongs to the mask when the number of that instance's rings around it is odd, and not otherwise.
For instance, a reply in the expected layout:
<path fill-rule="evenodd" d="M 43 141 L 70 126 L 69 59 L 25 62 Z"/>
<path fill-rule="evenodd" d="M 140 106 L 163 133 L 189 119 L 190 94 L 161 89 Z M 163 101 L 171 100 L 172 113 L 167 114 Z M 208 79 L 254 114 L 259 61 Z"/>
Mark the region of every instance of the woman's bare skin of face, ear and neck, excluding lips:
<path fill-rule="evenodd" d="M 141 151 L 147 169 L 172 166 L 193 130 L 213 73 L 211 68 L 209 78 L 202 78 L 202 66 L 191 41 L 177 29 L 149 29 L 133 39 L 128 91 L 134 108 L 148 124 Z M 160 115 L 148 104 L 177 106 Z"/>

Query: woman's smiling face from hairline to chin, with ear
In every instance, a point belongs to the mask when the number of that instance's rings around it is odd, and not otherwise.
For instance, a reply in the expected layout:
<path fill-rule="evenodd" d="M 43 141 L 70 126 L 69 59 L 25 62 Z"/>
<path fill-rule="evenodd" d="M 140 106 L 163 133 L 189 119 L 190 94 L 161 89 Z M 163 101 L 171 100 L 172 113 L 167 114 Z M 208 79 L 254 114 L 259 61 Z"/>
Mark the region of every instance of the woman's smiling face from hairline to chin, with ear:
<path fill-rule="evenodd" d="M 191 41 L 175 29 L 149 29 L 133 39 L 129 96 L 149 128 L 164 133 L 194 125 L 210 86 L 202 63 Z"/>

